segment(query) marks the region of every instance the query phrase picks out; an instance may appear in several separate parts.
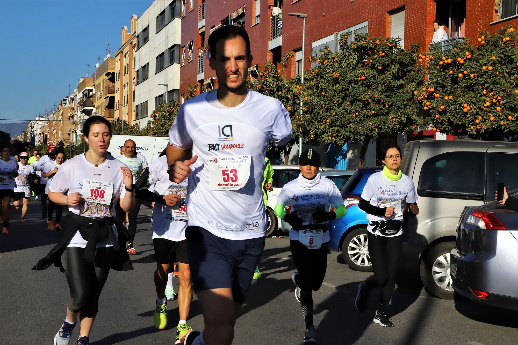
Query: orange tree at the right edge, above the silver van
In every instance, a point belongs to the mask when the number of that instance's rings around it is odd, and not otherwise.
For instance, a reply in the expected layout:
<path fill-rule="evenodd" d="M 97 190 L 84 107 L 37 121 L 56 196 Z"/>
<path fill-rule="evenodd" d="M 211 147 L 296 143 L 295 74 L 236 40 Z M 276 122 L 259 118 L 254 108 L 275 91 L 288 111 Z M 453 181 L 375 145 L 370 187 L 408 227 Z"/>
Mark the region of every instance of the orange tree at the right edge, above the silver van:
<path fill-rule="evenodd" d="M 431 48 L 434 59 L 429 61 L 426 85 L 414 90 L 414 98 L 429 114 L 423 125 L 474 139 L 518 140 L 515 39 L 514 28 L 508 26 L 492 35 L 482 32 L 475 44 L 458 41 L 445 52 Z"/>

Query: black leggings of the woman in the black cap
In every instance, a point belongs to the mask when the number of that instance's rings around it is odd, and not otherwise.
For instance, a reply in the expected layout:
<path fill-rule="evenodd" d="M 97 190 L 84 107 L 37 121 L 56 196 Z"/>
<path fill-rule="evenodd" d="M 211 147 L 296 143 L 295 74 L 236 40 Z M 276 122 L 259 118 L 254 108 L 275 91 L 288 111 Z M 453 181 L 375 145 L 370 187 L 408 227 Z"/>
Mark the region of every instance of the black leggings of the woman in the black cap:
<path fill-rule="evenodd" d="M 319 249 L 308 249 L 300 242 L 290 239 L 290 247 L 300 279 L 300 291 L 318 291 L 327 269 L 327 242 L 322 243 Z"/>

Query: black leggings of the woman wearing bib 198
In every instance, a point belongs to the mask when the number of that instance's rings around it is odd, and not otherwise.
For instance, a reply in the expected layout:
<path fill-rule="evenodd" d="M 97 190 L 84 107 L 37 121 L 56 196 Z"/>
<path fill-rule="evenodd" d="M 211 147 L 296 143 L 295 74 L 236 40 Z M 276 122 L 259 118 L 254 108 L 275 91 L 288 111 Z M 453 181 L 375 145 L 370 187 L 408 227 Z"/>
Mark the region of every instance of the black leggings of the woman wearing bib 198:
<path fill-rule="evenodd" d="M 97 248 L 95 261 L 83 260 L 84 248 L 66 248 L 61 261 L 70 288 L 67 308 L 93 318 L 99 309 L 99 295 L 110 272 L 113 247 Z"/>

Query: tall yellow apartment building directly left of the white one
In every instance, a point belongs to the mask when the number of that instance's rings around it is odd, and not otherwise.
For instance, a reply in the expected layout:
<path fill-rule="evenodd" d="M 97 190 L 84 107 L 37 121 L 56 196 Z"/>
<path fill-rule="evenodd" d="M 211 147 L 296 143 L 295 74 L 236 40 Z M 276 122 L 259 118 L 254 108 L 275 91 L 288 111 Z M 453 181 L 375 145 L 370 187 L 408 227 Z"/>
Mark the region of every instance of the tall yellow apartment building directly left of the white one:
<path fill-rule="evenodd" d="M 130 19 L 130 31 L 124 26 L 121 31 L 121 47 L 115 58 L 115 118 L 132 125 L 135 119 L 135 52 L 137 50 L 137 15 Z M 122 105 L 121 105 L 122 104 Z"/>

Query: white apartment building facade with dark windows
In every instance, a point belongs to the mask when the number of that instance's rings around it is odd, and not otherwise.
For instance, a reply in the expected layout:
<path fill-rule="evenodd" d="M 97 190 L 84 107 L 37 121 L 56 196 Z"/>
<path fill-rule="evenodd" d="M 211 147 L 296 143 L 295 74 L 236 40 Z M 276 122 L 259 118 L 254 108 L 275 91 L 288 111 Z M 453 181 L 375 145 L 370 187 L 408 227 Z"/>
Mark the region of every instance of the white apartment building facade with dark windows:
<path fill-rule="evenodd" d="M 179 1 L 155 0 L 137 19 L 135 118 L 146 126 L 157 104 L 179 100 Z"/>

